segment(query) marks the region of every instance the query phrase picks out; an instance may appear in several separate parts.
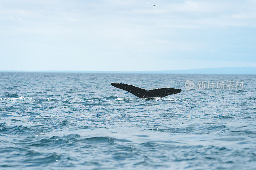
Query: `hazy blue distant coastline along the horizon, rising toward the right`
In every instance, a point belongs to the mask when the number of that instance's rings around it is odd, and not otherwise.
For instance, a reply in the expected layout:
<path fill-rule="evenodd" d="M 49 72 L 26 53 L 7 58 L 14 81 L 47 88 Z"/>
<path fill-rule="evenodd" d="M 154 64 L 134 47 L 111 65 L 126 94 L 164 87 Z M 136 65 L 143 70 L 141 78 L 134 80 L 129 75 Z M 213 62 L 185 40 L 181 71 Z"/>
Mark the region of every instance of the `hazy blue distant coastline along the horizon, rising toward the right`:
<path fill-rule="evenodd" d="M 256 74 L 256 67 L 221 67 L 188 70 L 163 71 L 18 71 L 6 70 L 0 72 L 40 72 L 40 73 L 169 73 L 169 74 Z"/>

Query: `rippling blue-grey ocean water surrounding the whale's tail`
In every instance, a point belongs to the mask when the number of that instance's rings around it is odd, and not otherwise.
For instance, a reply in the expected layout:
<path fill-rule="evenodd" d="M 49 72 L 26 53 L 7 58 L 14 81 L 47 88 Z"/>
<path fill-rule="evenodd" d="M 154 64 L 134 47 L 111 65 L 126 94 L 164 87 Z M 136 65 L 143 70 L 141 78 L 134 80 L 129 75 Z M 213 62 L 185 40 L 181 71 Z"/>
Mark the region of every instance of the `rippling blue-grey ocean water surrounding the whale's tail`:
<path fill-rule="evenodd" d="M 186 80 L 244 86 L 186 90 Z M 182 92 L 140 99 L 111 82 Z M 255 82 L 256 75 L 2 72 L 0 169 L 255 169 Z"/>

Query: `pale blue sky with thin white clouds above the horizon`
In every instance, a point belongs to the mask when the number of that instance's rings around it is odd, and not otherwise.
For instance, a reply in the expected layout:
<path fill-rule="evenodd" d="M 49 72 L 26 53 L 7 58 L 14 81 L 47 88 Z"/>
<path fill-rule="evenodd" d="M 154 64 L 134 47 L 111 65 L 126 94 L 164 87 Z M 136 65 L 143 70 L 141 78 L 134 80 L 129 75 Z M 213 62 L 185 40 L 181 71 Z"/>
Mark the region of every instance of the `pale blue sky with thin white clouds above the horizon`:
<path fill-rule="evenodd" d="M 0 70 L 256 67 L 255 9 L 256 0 L 0 0 Z"/>

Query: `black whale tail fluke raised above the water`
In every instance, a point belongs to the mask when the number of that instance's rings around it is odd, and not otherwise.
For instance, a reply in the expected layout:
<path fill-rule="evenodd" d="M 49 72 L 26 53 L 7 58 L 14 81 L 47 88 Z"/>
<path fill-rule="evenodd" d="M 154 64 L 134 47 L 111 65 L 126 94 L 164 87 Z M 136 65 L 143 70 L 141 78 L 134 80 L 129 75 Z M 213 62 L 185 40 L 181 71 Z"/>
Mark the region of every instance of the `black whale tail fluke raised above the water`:
<path fill-rule="evenodd" d="M 168 95 L 181 92 L 181 89 L 174 89 L 174 88 L 160 88 L 160 89 L 145 90 L 136 86 L 123 84 L 123 83 L 111 83 L 111 85 L 116 88 L 128 91 L 140 98 L 165 97 Z"/>

